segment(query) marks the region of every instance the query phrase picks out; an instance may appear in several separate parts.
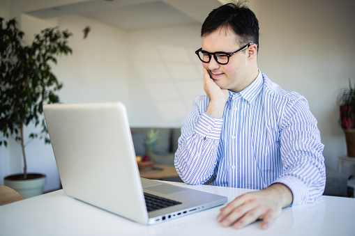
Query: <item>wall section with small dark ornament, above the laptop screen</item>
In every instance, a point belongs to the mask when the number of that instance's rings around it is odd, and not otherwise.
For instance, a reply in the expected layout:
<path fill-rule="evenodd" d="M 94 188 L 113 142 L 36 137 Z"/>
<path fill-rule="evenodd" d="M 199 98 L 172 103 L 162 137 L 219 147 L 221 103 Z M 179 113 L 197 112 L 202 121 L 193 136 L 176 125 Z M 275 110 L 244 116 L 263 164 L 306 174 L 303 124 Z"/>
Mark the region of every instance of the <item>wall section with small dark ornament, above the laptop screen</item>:
<path fill-rule="evenodd" d="M 128 102 L 127 33 L 79 16 L 61 17 L 59 26 L 74 35 L 73 54 L 57 68 L 62 102 Z M 84 39 L 86 26 L 91 30 Z"/>

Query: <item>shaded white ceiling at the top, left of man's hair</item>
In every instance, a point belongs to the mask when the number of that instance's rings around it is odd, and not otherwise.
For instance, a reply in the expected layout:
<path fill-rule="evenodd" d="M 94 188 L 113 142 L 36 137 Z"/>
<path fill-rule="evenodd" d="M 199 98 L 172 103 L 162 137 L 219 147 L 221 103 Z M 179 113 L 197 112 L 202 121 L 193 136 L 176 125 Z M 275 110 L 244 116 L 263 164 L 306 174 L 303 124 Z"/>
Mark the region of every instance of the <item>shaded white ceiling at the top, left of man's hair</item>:
<path fill-rule="evenodd" d="M 81 15 L 124 31 L 202 24 L 221 0 L 82 0 L 26 12 L 41 19 Z"/>

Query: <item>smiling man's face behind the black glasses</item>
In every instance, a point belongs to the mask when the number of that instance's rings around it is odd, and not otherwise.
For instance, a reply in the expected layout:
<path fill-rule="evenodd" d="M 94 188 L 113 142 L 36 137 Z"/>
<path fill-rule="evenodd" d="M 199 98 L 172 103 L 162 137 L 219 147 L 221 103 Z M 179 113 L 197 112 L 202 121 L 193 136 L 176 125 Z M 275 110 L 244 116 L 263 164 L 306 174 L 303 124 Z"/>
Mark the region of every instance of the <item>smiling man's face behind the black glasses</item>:
<path fill-rule="evenodd" d="M 217 29 L 202 39 L 202 49 L 207 52 L 234 52 L 243 45 L 238 45 L 238 36 L 230 29 Z M 209 63 L 202 63 L 209 71 L 211 78 L 220 88 L 240 92 L 250 82 L 247 75 L 248 49 L 229 57 L 229 63 L 220 65 L 211 58 Z M 254 78 L 255 79 L 255 78 Z"/>

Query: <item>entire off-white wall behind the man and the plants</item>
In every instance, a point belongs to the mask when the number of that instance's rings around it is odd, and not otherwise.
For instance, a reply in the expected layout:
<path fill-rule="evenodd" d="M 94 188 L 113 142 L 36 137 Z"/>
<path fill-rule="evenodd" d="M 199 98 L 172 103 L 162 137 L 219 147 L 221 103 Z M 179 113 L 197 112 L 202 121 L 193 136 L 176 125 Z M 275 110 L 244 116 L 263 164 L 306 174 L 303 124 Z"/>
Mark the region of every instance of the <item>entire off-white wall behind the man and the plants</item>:
<path fill-rule="evenodd" d="M 3 2 L 0 9 L 7 7 Z M 259 68 L 285 90 L 308 99 L 319 121 L 326 164 L 335 169 L 338 155 L 346 153 L 335 99 L 349 77 L 355 81 L 354 1 L 250 3 L 260 24 Z M 199 25 L 128 33 L 79 16 L 24 19 L 26 32 L 56 23 L 75 34 L 73 55 L 54 68 L 64 84 L 63 102 L 123 100 L 132 126 L 179 127 L 193 97 L 203 94 L 202 65 L 194 54 L 202 42 Z M 91 32 L 83 40 L 87 25 Z M 46 190 L 59 186 L 50 145 L 34 141 L 27 150 L 29 171 L 48 175 Z M 16 145 L 0 147 L 0 183 L 2 176 L 21 171 L 20 162 Z"/>

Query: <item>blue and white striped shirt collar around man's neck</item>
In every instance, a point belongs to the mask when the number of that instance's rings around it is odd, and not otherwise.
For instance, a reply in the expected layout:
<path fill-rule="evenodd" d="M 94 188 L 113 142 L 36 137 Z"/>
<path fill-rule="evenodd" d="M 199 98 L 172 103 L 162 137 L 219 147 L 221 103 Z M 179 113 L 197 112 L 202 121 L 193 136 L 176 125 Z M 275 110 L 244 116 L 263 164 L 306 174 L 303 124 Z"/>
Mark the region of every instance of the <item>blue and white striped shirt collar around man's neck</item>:
<path fill-rule="evenodd" d="M 232 91 L 229 91 L 229 99 L 235 100 L 238 97 L 243 97 L 249 103 L 252 103 L 255 101 L 259 93 L 262 91 L 262 84 L 263 84 L 262 73 L 259 70 L 259 73 L 257 74 L 257 78 L 254 81 L 252 81 L 252 84 L 244 88 L 243 91 L 239 93 L 234 93 Z"/>

